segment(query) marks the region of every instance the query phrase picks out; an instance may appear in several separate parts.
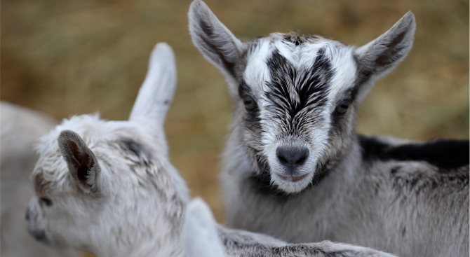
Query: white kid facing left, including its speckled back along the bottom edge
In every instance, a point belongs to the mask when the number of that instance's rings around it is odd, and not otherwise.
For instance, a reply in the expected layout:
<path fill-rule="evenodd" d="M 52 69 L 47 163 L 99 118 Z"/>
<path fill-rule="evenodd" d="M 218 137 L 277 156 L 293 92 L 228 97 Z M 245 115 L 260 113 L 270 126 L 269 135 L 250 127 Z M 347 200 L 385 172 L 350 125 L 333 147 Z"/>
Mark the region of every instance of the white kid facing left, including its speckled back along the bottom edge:
<path fill-rule="evenodd" d="M 173 53 L 157 45 L 128 121 L 74 116 L 42 137 L 33 172 L 36 197 L 27 210 L 36 239 L 99 257 L 184 256 L 180 237 L 189 193 L 168 161 L 163 134 L 174 90 Z M 194 240 L 208 235 L 192 231 Z M 214 247 L 223 245 L 228 256 L 392 256 L 331 242 L 289 245 L 219 226 L 217 233 Z"/>

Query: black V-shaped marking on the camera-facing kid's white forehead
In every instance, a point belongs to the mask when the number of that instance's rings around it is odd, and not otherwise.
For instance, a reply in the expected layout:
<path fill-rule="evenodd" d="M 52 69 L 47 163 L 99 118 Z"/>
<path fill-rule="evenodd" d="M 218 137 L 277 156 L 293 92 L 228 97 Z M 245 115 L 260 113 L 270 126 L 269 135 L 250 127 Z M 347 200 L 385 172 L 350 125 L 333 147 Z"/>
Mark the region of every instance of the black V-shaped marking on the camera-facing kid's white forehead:
<path fill-rule="evenodd" d="M 289 120 L 286 129 L 290 132 L 300 130 L 305 122 L 316 120 L 316 111 L 327 102 L 328 81 L 333 76 L 325 50 L 318 50 L 309 69 L 295 69 L 277 49 L 268 58 L 267 66 L 271 76 L 271 82 L 267 83 L 270 89 L 267 98 L 271 102 L 268 109 L 276 113 L 274 118 Z"/>

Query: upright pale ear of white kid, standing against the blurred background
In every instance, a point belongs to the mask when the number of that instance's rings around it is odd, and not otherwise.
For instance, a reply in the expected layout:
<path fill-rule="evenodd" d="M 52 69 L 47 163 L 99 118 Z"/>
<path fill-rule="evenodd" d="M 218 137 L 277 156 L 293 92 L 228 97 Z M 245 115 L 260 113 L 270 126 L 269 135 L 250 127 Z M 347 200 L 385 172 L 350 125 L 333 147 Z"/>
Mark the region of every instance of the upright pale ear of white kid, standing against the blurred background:
<path fill-rule="evenodd" d="M 166 144 L 163 125 L 176 88 L 176 64 L 173 50 L 157 43 L 152 50 L 149 68 L 140 87 L 129 120 L 140 123 L 149 134 Z"/>

